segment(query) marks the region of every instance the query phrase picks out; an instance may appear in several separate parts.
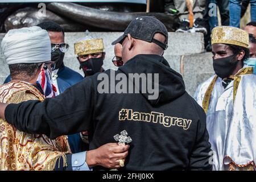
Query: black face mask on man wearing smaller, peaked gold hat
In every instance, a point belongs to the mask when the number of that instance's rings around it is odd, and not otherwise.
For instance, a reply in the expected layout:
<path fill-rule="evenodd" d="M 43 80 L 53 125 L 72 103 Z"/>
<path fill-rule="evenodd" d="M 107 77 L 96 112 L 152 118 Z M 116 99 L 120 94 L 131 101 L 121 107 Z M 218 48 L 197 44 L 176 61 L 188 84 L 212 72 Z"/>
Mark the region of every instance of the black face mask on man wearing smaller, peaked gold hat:
<path fill-rule="evenodd" d="M 103 57 L 90 58 L 87 61 L 80 62 L 80 69 L 84 71 L 85 76 L 94 75 L 101 71 L 103 65 Z"/>

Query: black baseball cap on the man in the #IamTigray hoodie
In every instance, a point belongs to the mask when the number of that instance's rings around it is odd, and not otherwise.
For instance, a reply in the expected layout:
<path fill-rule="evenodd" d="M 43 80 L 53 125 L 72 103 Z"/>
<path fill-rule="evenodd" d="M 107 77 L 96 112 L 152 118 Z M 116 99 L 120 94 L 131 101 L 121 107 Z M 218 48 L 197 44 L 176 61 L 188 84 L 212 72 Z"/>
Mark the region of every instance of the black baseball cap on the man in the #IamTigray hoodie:
<path fill-rule="evenodd" d="M 156 33 L 160 33 L 166 36 L 166 42 L 162 43 L 159 40 L 154 39 L 154 35 Z M 123 32 L 123 35 L 115 40 L 112 45 L 117 43 L 122 44 L 123 40 L 128 34 L 130 34 L 135 39 L 144 40 L 146 42 L 154 42 L 164 50 L 166 50 L 168 47 L 168 31 L 166 26 L 164 26 L 162 22 L 153 16 L 141 16 L 132 20 L 129 26 L 126 28 L 125 32 Z"/>

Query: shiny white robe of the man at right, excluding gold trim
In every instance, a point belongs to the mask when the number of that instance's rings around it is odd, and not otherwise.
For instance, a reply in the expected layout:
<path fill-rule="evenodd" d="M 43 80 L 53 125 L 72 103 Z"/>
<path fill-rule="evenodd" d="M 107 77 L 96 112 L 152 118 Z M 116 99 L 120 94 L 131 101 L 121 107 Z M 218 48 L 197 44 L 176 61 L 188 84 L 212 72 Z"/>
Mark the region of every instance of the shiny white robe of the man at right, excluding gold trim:
<path fill-rule="evenodd" d="M 195 100 L 203 106 L 210 77 L 199 85 Z M 256 162 L 256 75 L 242 75 L 233 102 L 234 81 L 224 89 L 217 78 L 207 111 L 209 142 L 213 150 L 213 170 L 225 170 L 230 163 L 245 167 Z"/>

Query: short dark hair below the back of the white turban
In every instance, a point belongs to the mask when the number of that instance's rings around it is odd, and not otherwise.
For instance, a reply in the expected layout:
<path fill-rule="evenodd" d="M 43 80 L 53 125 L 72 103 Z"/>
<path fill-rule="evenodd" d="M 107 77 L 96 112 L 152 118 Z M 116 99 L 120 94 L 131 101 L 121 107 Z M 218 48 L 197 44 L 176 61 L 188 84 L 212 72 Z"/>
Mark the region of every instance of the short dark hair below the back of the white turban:
<path fill-rule="evenodd" d="M 32 77 L 42 63 L 31 63 L 31 64 L 10 64 L 10 75 L 11 78 L 16 76 Z"/>

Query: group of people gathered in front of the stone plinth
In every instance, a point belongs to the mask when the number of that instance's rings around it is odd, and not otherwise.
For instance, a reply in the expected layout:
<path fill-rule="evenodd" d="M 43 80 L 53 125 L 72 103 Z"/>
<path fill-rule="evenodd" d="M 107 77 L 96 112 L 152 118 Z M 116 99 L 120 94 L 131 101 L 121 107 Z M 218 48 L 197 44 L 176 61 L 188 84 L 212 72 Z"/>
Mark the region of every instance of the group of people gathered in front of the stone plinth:
<path fill-rule="evenodd" d="M 84 76 L 63 63 L 59 24 L 10 30 L 1 44 L 10 76 L 0 86 L 0 170 L 255 170 L 255 36 L 256 22 L 214 25 L 216 74 L 192 97 L 164 59 L 168 31 L 152 16 L 112 43 L 117 71 L 102 68 L 103 40 L 86 31 L 73 45 Z M 99 78 L 110 92 L 99 92 Z"/>

